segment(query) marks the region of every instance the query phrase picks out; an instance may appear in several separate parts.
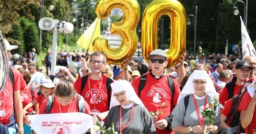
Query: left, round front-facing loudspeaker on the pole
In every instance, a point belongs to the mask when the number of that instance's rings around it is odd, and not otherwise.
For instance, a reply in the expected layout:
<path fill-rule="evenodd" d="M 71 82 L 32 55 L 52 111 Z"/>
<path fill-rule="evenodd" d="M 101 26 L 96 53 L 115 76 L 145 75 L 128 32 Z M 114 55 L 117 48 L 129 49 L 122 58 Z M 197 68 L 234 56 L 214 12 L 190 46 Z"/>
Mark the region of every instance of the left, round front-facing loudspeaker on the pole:
<path fill-rule="evenodd" d="M 50 30 L 55 26 L 55 21 L 52 18 L 44 17 L 39 20 L 38 26 L 42 30 Z"/>

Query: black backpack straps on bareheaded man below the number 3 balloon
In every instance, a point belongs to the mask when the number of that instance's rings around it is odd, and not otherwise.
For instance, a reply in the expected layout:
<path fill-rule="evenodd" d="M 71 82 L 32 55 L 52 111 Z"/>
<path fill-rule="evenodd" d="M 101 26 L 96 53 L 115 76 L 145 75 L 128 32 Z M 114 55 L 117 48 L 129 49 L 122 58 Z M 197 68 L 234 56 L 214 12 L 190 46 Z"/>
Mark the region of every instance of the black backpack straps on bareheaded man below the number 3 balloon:
<path fill-rule="evenodd" d="M 88 76 L 89 75 L 86 75 L 86 76 L 82 77 L 81 92 L 80 92 L 81 95 L 82 95 L 82 92 L 83 92 L 83 90 L 85 88 L 85 84 L 87 82 Z M 110 99 L 111 99 L 111 86 L 110 86 L 111 83 L 113 83 L 113 80 L 111 78 L 107 78 L 106 88 L 107 88 L 107 91 L 108 91 L 108 108 L 110 106 Z"/>

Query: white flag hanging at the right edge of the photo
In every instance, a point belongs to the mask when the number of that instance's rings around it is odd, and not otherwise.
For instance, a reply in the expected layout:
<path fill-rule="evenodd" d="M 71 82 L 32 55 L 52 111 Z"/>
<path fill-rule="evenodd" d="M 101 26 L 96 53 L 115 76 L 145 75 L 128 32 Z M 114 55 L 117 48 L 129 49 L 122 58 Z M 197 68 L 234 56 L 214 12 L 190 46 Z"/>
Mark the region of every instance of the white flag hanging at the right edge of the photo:
<path fill-rule="evenodd" d="M 256 59 L 256 51 L 247 32 L 246 26 L 241 19 L 241 34 L 242 34 L 242 59 L 247 56 L 253 56 Z"/>

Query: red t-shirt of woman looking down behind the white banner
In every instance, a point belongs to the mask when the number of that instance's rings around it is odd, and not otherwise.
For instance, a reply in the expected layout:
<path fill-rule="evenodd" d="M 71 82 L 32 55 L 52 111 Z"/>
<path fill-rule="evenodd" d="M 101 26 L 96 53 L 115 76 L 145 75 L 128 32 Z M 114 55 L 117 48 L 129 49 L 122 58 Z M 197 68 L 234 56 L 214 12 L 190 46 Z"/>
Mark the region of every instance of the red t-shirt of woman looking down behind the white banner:
<path fill-rule="evenodd" d="M 47 100 L 48 100 L 48 98 L 43 101 L 40 111 L 39 111 L 39 114 L 44 114 L 44 111 L 46 109 Z M 75 97 L 74 100 L 70 103 L 70 108 L 69 108 L 69 104 L 64 106 L 60 103 L 60 106 L 61 106 L 61 111 L 60 111 L 59 102 L 57 101 L 57 97 L 54 96 L 54 101 L 52 104 L 52 109 L 50 111 L 50 114 L 67 113 L 67 111 L 68 111 L 68 113 L 78 112 L 77 101 L 78 101 L 78 97 Z M 84 103 L 85 103 L 84 104 L 85 113 L 90 114 L 90 107 L 89 107 L 88 103 L 86 101 Z M 68 110 L 68 108 L 69 108 L 69 110 Z"/>

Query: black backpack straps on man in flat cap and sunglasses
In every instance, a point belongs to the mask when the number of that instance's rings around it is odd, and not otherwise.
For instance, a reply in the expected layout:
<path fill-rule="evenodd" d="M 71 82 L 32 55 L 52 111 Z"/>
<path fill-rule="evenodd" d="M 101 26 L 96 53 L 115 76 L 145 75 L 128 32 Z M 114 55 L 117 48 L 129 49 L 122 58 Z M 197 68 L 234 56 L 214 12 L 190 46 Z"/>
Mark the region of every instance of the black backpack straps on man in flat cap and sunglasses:
<path fill-rule="evenodd" d="M 142 91 L 142 89 L 145 86 L 146 75 L 147 74 L 142 75 L 141 76 L 141 81 L 139 81 L 139 84 L 138 84 L 138 97 L 141 96 L 141 91 Z M 169 87 L 171 89 L 171 98 L 173 98 L 174 97 L 174 93 L 175 93 L 173 79 L 170 76 L 167 76 L 167 77 L 168 77 L 168 84 L 169 84 Z"/>

